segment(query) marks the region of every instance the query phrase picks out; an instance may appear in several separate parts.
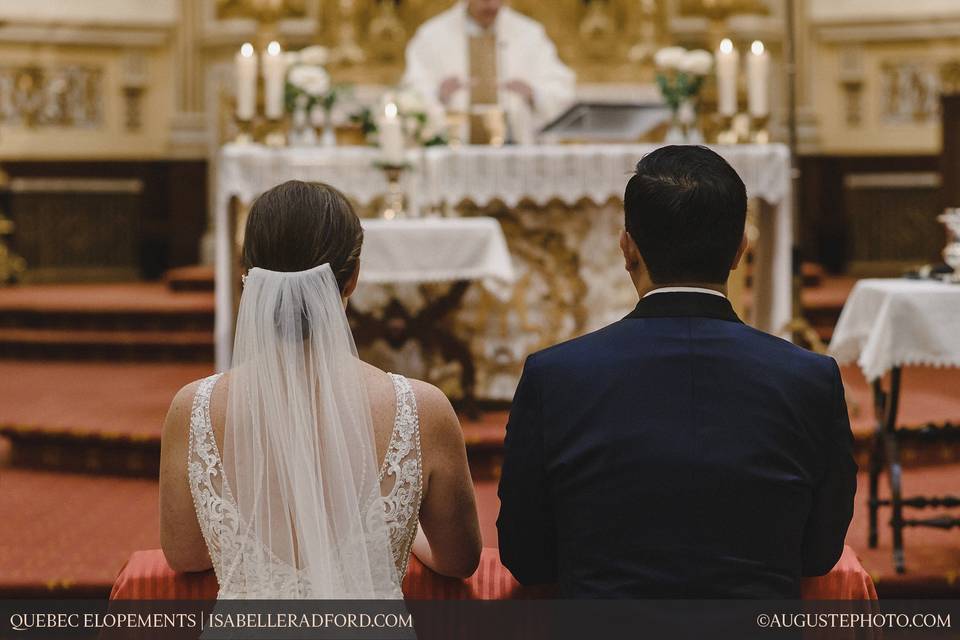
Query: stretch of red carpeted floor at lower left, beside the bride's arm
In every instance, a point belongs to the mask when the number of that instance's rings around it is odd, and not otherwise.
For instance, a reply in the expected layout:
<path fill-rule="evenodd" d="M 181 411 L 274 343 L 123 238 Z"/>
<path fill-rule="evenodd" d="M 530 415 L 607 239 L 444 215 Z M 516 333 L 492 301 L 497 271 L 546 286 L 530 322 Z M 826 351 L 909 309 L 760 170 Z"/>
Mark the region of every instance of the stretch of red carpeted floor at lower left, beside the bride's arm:
<path fill-rule="evenodd" d="M 0 598 L 105 598 L 160 543 L 154 480 L 0 469 L 0 513 Z"/>

